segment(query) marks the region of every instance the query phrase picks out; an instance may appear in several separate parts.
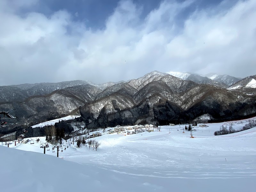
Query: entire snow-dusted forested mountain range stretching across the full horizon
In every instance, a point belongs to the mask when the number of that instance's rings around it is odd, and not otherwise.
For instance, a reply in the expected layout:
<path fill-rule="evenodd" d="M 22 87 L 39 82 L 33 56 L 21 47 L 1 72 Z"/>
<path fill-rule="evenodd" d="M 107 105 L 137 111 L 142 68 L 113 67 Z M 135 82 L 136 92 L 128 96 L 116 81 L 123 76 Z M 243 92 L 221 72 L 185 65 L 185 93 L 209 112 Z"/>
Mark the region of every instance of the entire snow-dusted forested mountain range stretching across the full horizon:
<path fill-rule="evenodd" d="M 63 89 L 56 89 L 57 84 L 48 84 L 50 87 L 40 84 L 34 86 L 34 91 L 30 85 L 22 85 L 22 89 L 18 85 L 1 86 L 0 111 L 16 108 L 18 117 L 33 119 L 37 116 L 47 120 L 80 111 L 88 122 L 93 122 L 92 126 L 141 122 L 165 124 L 175 119 L 191 121 L 202 115 L 201 112 L 217 119 L 229 118 L 232 112 L 232 117 L 237 118 L 255 113 L 255 76 L 226 89 L 223 84 L 207 77 L 184 74 L 177 73 L 176 76 L 187 80 L 172 76 L 174 73 L 153 71 L 129 82 L 102 85 L 82 84 L 81 81 L 58 83 L 65 87 Z M 237 86 L 240 89 L 236 89 Z M 56 90 L 48 93 L 52 89 Z M 29 96 L 28 90 L 40 94 L 46 90 L 47 94 Z M 249 110 L 241 103 L 246 103 L 247 107 L 252 105 L 252 108 Z"/>

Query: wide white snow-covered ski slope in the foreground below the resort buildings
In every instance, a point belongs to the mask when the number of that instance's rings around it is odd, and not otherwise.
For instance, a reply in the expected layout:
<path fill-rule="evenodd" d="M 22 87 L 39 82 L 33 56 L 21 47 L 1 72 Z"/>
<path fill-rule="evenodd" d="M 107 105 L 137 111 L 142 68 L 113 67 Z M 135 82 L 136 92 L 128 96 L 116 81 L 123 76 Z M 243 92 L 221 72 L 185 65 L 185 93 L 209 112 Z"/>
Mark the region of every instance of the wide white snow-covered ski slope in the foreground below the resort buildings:
<path fill-rule="evenodd" d="M 106 134 L 97 151 L 69 142 L 64 160 L 38 143 L 0 146 L 1 191 L 255 191 L 256 128 L 214 136 L 222 124 L 195 128 L 195 138 L 179 125 Z"/>

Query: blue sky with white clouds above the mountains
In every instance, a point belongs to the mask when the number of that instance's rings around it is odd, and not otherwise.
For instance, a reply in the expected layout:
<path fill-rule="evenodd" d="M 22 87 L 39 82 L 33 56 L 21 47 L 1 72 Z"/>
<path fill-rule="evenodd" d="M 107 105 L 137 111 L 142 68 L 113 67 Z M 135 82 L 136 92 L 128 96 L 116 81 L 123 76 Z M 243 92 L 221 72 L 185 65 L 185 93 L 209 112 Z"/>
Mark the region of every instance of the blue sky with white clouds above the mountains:
<path fill-rule="evenodd" d="M 0 85 L 256 74 L 255 0 L 1 0 Z"/>

